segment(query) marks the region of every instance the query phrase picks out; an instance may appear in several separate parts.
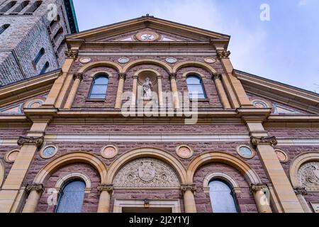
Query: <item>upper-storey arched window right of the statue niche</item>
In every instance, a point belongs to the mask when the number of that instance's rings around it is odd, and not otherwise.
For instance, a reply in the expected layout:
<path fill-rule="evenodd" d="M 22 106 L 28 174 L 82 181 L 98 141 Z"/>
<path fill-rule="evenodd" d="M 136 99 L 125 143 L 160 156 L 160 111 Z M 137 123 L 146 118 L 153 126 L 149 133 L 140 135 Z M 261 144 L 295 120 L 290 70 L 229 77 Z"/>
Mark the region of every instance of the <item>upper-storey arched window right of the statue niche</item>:
<path fill-rule="evenodd" d="M 203 88 L 201 77 L 189 75 L 186 79 L 187 88 L 189 89 L 190 99 L 206 99 L 206 93 Z"/>

